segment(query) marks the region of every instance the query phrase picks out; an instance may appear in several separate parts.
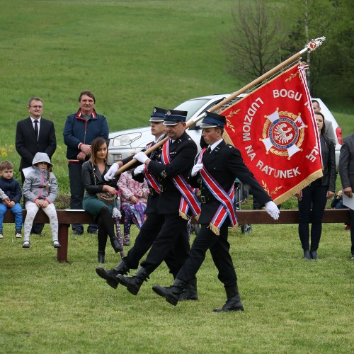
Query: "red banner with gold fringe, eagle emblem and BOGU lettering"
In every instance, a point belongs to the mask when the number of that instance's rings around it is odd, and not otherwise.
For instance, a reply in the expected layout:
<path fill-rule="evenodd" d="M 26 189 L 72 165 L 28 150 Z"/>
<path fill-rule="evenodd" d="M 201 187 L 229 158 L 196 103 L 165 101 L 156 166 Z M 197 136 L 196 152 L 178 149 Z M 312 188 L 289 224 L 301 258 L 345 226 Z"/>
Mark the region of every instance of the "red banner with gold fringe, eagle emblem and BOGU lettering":
<path fill-rule="evenodd" d="M 224 139 L 276 204 L 322 176 L 321 148 L 303 64 L 222 111 Z"/>

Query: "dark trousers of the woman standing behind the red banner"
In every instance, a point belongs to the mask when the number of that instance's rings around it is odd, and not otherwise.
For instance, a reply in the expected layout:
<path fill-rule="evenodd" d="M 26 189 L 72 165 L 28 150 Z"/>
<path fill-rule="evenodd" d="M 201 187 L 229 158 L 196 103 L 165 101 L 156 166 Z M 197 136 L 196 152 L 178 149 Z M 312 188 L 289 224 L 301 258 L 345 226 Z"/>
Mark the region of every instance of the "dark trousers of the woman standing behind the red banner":
<path fill-rule="evenodd" d="M 311 223 L 311 250 L 319 248 L 322 232 L 322 217 L 326 207 L 328 185 L 311 183 L 302 190 L 302 200 L 299 200 L 299 238 L 302 249 L 309 249 L 309 224 Z"/>

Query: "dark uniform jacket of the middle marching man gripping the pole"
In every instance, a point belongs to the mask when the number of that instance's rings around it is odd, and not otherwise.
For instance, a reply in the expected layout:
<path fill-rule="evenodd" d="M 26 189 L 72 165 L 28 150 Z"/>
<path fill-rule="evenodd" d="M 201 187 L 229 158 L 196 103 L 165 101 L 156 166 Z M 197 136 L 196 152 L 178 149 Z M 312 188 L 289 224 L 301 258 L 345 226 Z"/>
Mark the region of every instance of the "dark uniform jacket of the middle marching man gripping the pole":
<path fill-rule="evenodd" d="M 173 185 L 171 178 L 181 175 L 187 181 L 188 173 L 193 167 L 197 152 L 197 145 L 193 139 L 186 132 L 183 132 L 181 137 L 170 144 L 171 164 L 161 164 L 161 156 L 157 157 L 157 161 L 149 162 L 149 173 L 159 180 L 163 189 L 157 204 L 159 214 L 178 212 L 181 193 Z"/>

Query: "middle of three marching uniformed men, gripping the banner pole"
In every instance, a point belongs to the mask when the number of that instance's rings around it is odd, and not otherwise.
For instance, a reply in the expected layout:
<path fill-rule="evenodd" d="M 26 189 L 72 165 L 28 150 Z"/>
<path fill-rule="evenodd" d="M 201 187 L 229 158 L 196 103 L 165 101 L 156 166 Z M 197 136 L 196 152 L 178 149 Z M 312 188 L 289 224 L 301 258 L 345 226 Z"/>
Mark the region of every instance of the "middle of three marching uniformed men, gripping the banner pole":
<path fill-rule="evenodd" d="M 188 233 L 186 232 L 188 217 L 183 213 L 183 210 L 180 210 L 182 194 L 178 188 L 181 187 L 179 181 L 181 179 L 186 181 L 188 178 L 188 172 L 193 166 L 198 149 L 193 139 L 185 132 L 186 116 L 187 112 L 180 110 L 166 112 L 164 125 L 169 140 L 165 142 L 162 154 L 157 156 L 156 160 L 149 159 L 144 152 L 139 152 L 134 156 L 137 161 L 147 166 L 147 170 L 157 179 L 161 187 L 157 213 L 161 216 L 162 224 L 156 223 L 155 229 L 159 230 L 158 235 L 136 275 L 132 277 L 117 275 L 120 284 L 127 287 L 127 290 L 133 295 L 137 295 L 142 283 L 147 281 L 149 275 L 172 251 L 179 263 L 177 272 L 190 251 Z M 193 199 L 193 205 L 195 200 Z"/>

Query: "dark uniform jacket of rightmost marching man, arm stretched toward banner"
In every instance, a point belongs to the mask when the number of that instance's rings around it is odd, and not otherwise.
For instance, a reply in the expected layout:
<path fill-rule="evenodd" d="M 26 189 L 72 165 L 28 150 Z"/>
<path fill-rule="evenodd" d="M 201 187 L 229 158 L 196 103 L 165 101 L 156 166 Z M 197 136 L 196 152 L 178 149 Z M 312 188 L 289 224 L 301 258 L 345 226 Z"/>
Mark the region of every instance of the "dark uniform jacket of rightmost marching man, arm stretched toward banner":
<path fill-rule="evenodd" d="M 232 145 L 226 144 L 224 140 L 210 154 L 204 153 L 202 163 L 225 192 L 228 193 L 234 185 L 235 179 L 239 178 L 259 202 L 264 204 L 271 200 L 268 193 L 263 190 L 256 178 L 254 178 L 253 173 L 244 164 L 239 150 L 232 147 Z M 202 182 L 200 173 L 197 173 L 194 177 L 189 176 L 188 181 L 194 188 L 200 188 L 200 195 L 207 201 L 202 203 L 202 212 L 198 222 L 200 224 L 209 224 L 220 202 L 213 197 L 205 183 Z M 226 222 L 229 222 L 229 218 L 227 218 Z"/>

